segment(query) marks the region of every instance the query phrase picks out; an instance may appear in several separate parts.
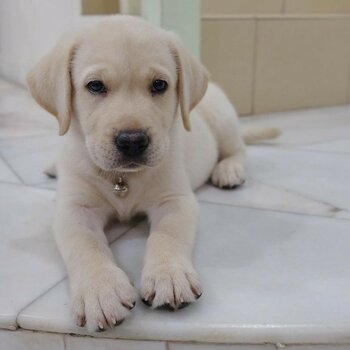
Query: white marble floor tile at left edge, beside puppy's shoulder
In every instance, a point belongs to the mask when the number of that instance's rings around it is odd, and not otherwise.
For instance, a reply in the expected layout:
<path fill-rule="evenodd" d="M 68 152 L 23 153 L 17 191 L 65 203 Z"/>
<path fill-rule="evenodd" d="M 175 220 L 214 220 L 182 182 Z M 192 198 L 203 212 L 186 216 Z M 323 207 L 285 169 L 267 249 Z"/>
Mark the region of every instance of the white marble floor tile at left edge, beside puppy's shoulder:
<path fill-rule="evenodd" d="M 55 183 L 44 170 L 54 163 L 61 145 L 59 136 L 0 140 L 0 154 L 25 184 Z"/>

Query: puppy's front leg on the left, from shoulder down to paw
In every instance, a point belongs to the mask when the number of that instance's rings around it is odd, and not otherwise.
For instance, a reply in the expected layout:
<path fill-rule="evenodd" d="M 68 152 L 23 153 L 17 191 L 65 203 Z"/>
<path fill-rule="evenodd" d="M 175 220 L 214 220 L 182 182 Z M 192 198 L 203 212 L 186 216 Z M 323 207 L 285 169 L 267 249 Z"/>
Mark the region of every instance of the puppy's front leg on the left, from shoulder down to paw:
<path fill-rule="evenodd" d="M 75 322 L 103 331 L 129 314 L 134 290 L 116 266 L 103 231 L 111 208 L 81 184 L 67 189 L 59 191 L 54 233 L 68 270 Z"/>

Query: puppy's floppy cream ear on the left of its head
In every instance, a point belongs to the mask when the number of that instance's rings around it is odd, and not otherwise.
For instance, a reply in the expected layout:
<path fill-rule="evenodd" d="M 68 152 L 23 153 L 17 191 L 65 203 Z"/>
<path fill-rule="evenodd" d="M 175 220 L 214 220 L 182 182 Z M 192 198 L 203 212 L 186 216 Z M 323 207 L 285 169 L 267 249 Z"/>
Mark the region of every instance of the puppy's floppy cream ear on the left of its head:
<path fill-rule="evenodd" d="M 64 135 L 72 117 L 71 61 L 75 39 L 64 36 L 27 75 L 31 94 L 38 104 L 53 114 Z"/>

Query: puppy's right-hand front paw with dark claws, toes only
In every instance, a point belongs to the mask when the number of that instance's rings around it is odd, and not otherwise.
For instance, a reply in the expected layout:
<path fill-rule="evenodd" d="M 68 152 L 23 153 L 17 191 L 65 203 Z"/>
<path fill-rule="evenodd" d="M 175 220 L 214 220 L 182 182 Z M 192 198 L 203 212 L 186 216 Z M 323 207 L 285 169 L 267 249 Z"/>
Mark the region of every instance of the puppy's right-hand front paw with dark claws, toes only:
<path fill-rule="evenodd" d="M 152 308 L 182 309 L 202 295 L 199 276 L 188 261 L 146 265 L 141 299 Z"/>

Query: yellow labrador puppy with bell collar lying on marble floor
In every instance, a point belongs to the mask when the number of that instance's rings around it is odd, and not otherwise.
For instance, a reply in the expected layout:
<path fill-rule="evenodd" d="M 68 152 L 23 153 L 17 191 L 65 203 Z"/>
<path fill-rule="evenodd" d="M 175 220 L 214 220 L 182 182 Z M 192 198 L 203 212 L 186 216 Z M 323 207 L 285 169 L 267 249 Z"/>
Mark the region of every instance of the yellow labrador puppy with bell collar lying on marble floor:
<path fill-rule="evenodd" d="M 77 325 L 104 330 L 135 305 L 104 234 L 112 217 L 145 213 L 151 223 L 144 303 L 180 309 L 198 299 L 193 190 L 209 178 L 223 188 L 241 185 L 245 159 L 237 115 L 224 93 L 208 86 L 206 69 L 174 34 L 115 16 L 63 37 L 28 85 L 66 134 L 54 232 Z M 255 135 L 264 136 L 274 130 Z"/>

